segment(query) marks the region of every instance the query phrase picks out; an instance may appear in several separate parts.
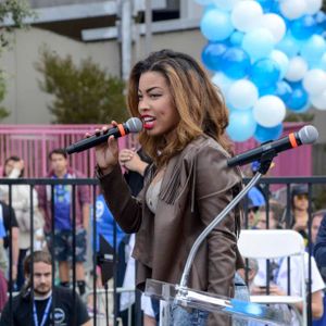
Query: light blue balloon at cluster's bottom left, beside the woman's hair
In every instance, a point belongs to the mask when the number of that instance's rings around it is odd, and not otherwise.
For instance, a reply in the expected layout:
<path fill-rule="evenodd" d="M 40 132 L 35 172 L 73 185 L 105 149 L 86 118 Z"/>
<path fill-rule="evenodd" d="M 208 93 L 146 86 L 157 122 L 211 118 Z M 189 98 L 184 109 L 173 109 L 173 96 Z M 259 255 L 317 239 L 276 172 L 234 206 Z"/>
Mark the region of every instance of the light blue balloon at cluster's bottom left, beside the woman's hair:
<path fill-rule="evenodd" d="M 226 131 L 234 141 L 246 141 L 253 136 L 256 123 L 252 110 L 236 110 L 229 115 Z"/>

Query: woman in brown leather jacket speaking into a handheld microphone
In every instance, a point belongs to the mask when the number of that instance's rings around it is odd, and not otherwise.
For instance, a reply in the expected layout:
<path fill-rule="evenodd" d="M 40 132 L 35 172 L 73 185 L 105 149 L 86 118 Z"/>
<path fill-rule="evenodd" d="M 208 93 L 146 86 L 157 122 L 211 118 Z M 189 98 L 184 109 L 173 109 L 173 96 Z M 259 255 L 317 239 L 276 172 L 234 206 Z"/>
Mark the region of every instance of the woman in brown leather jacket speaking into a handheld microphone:
<path fill-rule="evenodd" d="M 139 142 L 153 160 L 143 190 L 137 199 L 130 196 L 114 137 L 96 148 L 97 176 L 116 222 L 124 231 L 136 233 L 136 284 L 143 290 L 148 278 L 179 283 L 189 249 L 239 193 L 242 176 L 239 168 L 227 166 L 230 145 L 223 97 L 191 57 L 162 50 L 138 62 L 131 70 L 127 102 L 131 115 L 142 120 Z M 234 296 L 236 271 L 243 267 L 239 230 L 236 208 L 202 243 L 191 266 L 190 288 Z M 231 322 L 225 314 L 208 315 L 179 305 L 170 313 L 177 326 Z"/>

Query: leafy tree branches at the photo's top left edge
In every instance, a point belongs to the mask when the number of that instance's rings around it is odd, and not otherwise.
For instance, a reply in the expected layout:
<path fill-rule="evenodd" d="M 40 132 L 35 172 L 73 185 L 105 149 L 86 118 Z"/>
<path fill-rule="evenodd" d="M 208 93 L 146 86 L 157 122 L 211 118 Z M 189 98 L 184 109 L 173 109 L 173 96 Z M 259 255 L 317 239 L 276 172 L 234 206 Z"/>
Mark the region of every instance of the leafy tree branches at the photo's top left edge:
<path fill-rule="evenodd" d="M 32 16 L 34 13 L 25 0 L 0 0 L 0 55 L 12 42 L 11 32 L 14 28 L 25 28 L 27 25 L 24 20 Z M 5 25 L 5 20 L 12 20 L 12 24 Z M 0 68 L 0 103 L 5 97 L 5 91 L 4 71 Z M 0 106 L 0 120 L 8 115 L 5 108 Z"/>

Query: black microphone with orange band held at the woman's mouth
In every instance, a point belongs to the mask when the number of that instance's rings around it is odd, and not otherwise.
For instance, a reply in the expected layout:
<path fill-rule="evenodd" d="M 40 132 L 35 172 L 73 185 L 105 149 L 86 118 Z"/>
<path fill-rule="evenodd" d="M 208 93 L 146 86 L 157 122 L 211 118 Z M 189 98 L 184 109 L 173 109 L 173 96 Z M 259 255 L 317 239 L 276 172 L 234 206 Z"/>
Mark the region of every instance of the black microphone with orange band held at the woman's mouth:
<path fill-rule="evenodd" d="M 129 133 L 139 133 L 142 129 L 142 123 L 138 117 L 130 117 L 127 122 L 118 124 L 116 127 L 109 129 L 103 135 L 93 135 L 89 138 L 82 139 L 71 146 L 68 146 L 65 151 L 67 154 L 78 153 L 90 149 L 97 145 L 105 142 L 110 136 L 115 138 L 123 137 Z"/>

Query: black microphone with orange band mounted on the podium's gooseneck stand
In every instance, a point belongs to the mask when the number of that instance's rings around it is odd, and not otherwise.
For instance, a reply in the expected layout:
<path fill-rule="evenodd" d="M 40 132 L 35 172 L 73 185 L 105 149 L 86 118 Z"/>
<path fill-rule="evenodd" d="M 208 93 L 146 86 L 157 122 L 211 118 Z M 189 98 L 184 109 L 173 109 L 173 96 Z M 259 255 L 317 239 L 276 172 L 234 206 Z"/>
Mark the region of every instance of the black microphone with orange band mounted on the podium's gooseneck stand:
<path fill-rule="evenodd" d="M 314 126 L 304 126 L 298 133 L 291 133 L 287 137 L 269 141 L 248 152 L 227 160 L 228 166 L 244 165 L 259 160 L 263 153 L 274 150 L 276 155 L 285 150 L 305 143 L 314 143 L 318 138 L 318 130 Z"/>

